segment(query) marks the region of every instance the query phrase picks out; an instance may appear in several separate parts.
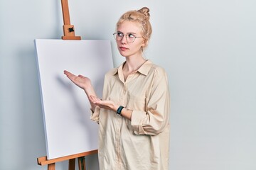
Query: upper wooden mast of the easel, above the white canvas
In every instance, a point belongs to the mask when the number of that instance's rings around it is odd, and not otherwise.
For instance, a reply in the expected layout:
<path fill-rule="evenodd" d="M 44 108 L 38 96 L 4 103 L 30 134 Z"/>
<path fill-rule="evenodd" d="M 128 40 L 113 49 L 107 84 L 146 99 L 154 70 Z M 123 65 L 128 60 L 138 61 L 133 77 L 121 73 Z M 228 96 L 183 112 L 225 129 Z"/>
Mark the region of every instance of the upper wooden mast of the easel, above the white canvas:
<path fill-rule="evenodd" d="M 75 36 L 75 28 L 73 25 L 70 25 L 70 15 L 68 10 L 68 0 L 61 0 L 61 7 L 63 11 L 63 32 L 64 36 L 61 38 L 63 40 L 81 40 L 80 36 Z"/>

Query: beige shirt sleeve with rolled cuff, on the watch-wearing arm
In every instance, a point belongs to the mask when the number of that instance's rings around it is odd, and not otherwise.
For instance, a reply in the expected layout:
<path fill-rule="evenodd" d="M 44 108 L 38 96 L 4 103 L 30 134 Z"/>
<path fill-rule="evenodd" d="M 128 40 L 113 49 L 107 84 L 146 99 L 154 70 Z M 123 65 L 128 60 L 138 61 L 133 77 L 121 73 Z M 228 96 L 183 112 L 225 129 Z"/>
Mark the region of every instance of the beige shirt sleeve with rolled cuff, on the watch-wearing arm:
<path fill-rule="evenodd" d="M 146 111 L 132 111 L 131 125 L 137 135 L 158 135 L 169 125 L 170 95 L 166 72 L 156 74 Z"/>

